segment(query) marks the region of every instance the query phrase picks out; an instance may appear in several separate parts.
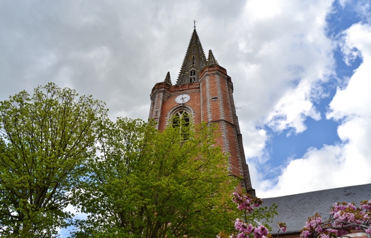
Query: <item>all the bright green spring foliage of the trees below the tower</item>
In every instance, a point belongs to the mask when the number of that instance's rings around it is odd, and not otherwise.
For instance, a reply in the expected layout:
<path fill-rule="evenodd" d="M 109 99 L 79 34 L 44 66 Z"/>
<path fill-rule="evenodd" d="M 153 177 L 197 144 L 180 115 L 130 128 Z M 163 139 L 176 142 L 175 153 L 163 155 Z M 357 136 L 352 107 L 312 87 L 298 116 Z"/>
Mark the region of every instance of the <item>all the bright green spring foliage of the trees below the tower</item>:
<path fill-rule="evenodd" d="M 0 102 L 0 236 L 215 237 L 232 232 L 238 182 L 215 145 L 217 126 L 181 114 L 154 123 L 106 115 L 104 104 L 49 83 Z M 97 156 L 98 151 L 98 156 Z M 275 208 L 245 219 L 268 221 Z"/>

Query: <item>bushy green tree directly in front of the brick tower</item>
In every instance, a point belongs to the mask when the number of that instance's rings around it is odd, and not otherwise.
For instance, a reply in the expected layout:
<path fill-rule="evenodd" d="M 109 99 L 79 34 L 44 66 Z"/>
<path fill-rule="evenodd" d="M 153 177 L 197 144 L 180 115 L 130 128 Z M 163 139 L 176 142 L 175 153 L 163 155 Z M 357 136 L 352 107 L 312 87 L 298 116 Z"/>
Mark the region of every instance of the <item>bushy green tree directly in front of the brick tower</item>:
<path fill-rule="evenodd" d="M 187 134 L 187 140 L 184 140 Z M 118 118 L 102 129 L 101 156 L 76 204 L 88 214 L 73 237 L 215 237 L 237 216 L 228 157 L 215 126 L 178 120 L 163 132 Z M 186 236 L 184 236 L 186 237 Z"/>

